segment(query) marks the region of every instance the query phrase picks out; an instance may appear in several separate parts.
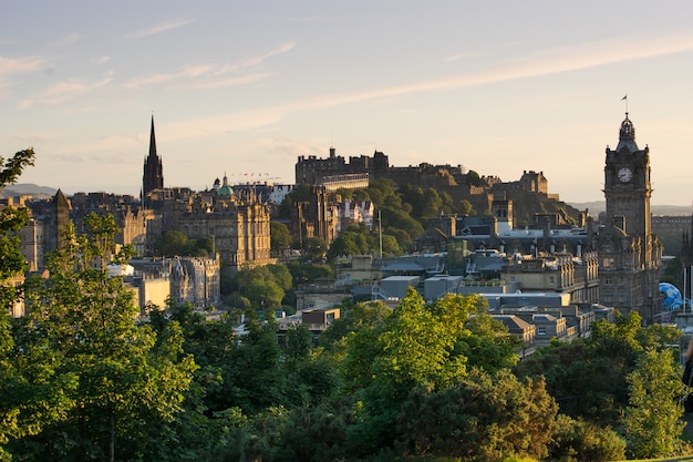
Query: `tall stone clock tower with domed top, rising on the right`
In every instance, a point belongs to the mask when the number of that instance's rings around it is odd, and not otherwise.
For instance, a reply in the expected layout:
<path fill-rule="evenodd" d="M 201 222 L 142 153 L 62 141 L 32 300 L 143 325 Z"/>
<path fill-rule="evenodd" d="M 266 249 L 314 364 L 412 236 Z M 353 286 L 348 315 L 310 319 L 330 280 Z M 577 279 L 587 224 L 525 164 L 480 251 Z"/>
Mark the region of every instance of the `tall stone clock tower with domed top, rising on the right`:
<path fill-rule="evenodd" d="M 622 314 L 637 310 L 648 322 L 661 311 L 659 279 L 662 246 L 651 230 L 650 148 L 638 147 L 625 113 L 616 150 L 607 146 L 607 213 L 597 239 L 599 300 Z"/>

